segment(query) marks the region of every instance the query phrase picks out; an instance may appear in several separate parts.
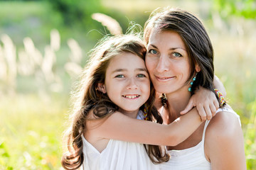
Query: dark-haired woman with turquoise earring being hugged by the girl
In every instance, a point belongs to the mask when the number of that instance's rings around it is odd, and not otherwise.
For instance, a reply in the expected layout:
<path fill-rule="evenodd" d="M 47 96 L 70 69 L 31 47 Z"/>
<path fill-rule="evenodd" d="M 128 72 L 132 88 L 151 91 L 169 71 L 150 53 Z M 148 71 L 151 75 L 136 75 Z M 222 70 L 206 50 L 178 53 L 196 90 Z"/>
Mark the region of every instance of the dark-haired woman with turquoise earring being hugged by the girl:
<path fill-rule="evenodd" d="M 199 86 L 213 89 L 213 47 L 201 21 L 187 11 L 164 8 L 144 26 L 146 68 L 161 97 L 165 124 L 181 116 Z M 205 108 L 209 109 L 209 108 Z M 209 112 L 209 111 L 206 111 Z M 239 116 L 225 106 L 185 141 L 166 147 L 162 169 L 246 169 Z"/>

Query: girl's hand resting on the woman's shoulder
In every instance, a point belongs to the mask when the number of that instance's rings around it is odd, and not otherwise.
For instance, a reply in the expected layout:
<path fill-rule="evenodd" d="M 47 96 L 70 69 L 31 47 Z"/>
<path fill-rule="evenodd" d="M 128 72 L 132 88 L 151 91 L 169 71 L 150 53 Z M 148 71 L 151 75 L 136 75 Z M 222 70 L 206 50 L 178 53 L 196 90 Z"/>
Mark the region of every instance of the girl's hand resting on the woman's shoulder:
<path fill-rule="evenodd" d="M 181 111 L 181 115 L 187 113 L 195 106 L 203 121 L 213 118 L 220 107 L 213 91 L 209 91 L 203 87 L 199 87 L 199 90 L 191 96 L 188 105 L 183 111 Z"/>

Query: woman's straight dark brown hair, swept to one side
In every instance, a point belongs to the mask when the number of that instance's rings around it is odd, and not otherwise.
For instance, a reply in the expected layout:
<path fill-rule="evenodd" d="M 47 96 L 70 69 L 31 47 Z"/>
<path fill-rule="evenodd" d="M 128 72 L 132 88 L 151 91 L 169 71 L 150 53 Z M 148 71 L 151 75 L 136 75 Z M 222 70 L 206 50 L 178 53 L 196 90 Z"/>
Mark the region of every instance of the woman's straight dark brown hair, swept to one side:
<path fill-rule="evenodd" d="M 149 36 L 153 28 L 160 32 L 171 30 L 181 36 L 191 61 L 191 74 L 187 83 L 195 75 L 196 64 L 201 68 L 196 76 L 196 81 L 193 82 L 191 94 L 198 86 L 215 92 L 213 89 L 213 46 L 203 23 L 188 11 L 167 7 L 156 9 L 151 13 L 149 20 L 146 21 L 144 26 L 144 42 L 146 42 L 146 45 L 149 43 Z M 217 95 L 216 97 L 218 98 Z"/>

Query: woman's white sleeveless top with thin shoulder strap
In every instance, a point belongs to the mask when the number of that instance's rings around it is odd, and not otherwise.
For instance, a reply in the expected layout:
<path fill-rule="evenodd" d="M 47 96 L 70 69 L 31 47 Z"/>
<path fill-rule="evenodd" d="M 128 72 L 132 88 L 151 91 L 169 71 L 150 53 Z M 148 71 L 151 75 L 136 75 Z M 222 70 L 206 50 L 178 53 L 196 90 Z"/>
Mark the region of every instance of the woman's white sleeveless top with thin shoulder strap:
<path fill-rule="evenodd" d="M 240 118 L 237 113 L 229 108 L 219 108 L 216 113 L 220 111 L 226 111 L 230 113 L 234 113 L 239 120 Z M 190 147 L 188 149 L 181 149 L 181 150 L 169 150 L 169 154 L 171 158 L 169 162 L 164 162 L 160 165 L 161 170 L 167 169 L 175 169 L 175 170 L 210 170 L 210 162 L 205 157 L 204 152 L 204 141 L 206 135 L 206 128 L 210 120 L 206 120 L 206 124 L 203 128 L 203 137 L 201 142 L 198 143 L 195 147 Z M 241 123 L 240 123 L 241 125 Z"/>

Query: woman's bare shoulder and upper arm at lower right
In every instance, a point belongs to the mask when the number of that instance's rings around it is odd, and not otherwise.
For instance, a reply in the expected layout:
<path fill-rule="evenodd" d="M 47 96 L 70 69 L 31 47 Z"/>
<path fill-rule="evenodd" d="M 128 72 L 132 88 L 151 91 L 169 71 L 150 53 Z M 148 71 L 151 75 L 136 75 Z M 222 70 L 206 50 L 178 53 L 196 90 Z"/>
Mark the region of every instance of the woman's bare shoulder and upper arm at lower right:
<path fill-rule="evenodd" d="M 233 113 L 221 112 L 210 120 L 205 152 L 213 170 L 246 169 L 242 129 Z"/>

